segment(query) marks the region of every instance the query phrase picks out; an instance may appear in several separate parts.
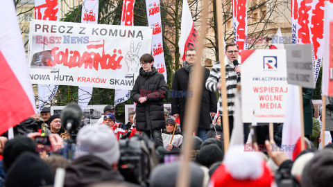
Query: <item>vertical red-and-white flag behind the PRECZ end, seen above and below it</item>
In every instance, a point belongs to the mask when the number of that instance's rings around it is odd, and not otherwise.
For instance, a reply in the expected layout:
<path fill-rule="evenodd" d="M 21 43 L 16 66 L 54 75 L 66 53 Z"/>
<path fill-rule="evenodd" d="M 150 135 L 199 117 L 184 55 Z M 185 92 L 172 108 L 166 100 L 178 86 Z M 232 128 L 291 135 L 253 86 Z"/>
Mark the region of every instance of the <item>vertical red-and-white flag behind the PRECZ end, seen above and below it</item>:
<path fill-rule="evenodd" d="M 58 0 L 35 0 L 35 19 L 59 21 Z M 38 84 L 38 109 L 51 103 L 56 96 L 58 85 Z"/>

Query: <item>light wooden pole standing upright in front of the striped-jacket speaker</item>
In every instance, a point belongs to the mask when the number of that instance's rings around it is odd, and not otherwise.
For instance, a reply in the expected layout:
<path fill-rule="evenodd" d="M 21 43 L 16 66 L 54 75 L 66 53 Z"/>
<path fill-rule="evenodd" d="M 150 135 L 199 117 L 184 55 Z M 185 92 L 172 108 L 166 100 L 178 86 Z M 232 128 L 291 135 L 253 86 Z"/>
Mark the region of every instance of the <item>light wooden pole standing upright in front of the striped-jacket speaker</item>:
<path fill-rule="evenodd" d="M 219 57 L 220 57 L 220 71 L 221 71 L 221 98 L 222 98 L 222 119 L 223 119 L 223 140 L 224 152 L 229 148 L 229 116 L 228 116 L 228 103 L 227 103 L 227 87 L 225 87 L 225 67 L 224 67 L 224 46 L 223 46 L 223 18 L 222 18 L 222 2 L 216 0 L 216 16 L 217 16 L 217 33 L 219 35 Z"/>

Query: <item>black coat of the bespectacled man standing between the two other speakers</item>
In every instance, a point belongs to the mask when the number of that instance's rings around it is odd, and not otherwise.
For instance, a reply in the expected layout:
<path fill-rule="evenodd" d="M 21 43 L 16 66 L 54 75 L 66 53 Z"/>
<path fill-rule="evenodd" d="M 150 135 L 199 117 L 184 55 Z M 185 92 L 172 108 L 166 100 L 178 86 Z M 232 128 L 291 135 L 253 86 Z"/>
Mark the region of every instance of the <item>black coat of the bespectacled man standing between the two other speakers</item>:
<path fill-rule="evenodd" d="M 205 69 L 205 76 L 201 85 L 203 86 L 203 95 L 200 105 L 200 116 L 198 127 L 210 129 L 210 112 L 217 112 L 216 94 L 212 91 L 208 91 L 205 87 L 205 82 L 210 76 L 210 70 Z M 189 83 L 189 72 L 185 68 L 178 69 L 175 73 L 172 82 L 172 97 L 171 97 L 171 113 L 179 114 L 180 125 L 184 124 L 185 119 L 185 105 L 187 96 L 187 84 Z M 193 96 L 193 93 L 188 93 L 189 96 Z"/>

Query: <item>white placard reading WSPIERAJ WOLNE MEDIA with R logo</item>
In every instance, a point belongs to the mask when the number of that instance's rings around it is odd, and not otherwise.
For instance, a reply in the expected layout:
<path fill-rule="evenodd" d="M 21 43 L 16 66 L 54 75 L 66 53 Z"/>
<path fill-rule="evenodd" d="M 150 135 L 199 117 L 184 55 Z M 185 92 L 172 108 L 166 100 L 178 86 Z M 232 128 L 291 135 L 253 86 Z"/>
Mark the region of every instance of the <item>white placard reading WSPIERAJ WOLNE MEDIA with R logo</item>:
<path fill-rule="evenodd" d="M 286 52 L 241 51 L 241 98 L 244 123 L 282 123 L 287 106 Z"/>

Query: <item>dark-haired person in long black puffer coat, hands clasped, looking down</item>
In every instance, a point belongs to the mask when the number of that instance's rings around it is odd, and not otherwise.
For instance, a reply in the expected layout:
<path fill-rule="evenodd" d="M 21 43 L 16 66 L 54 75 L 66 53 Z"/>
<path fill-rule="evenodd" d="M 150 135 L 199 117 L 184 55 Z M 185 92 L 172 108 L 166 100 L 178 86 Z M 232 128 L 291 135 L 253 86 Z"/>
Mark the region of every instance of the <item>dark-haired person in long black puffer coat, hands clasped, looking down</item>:
<path fill-rule="evenodd" d="M 131 97 L 136 107 L 137 130 L 146 133 L 163 145 L 161 129 L 165 125 L 163 98 L 167 93 L 164 75 L 153 66 L 154 57 L 144 54 L 140 57 L 142 67 L 135 80 Z"/>

